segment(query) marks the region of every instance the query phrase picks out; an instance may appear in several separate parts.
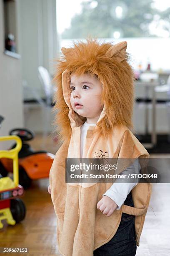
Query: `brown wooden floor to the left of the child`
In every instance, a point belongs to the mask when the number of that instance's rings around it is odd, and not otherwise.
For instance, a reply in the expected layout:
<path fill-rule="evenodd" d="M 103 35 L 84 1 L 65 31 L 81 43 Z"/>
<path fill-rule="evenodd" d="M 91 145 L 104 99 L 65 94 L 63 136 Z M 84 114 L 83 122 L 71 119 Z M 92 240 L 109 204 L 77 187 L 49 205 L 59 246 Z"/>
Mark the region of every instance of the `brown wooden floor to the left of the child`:
<path fill-rule="evenodd" d="M 40 135 L 37 135 L 30 144 L 35 150 L 47 150 L 53 154 L 58 148 L 50 136 L 44 148 Z M 26 218 L 15 226 L 7 225 L 5 220 L 2 221 L 4 227 L 0 229 L 0 247 L 29 249 L 28 254 L 13 255 L 60 255 L 56 246 L 56 218 L 51 197 L 47 192 L 48 185 L 49 179 L 40 179 L 33 181 L 30 189 L 25 190 L 22 200 L 27 208 Z M 12 255 L 2 255 L 5 254 Z"/>

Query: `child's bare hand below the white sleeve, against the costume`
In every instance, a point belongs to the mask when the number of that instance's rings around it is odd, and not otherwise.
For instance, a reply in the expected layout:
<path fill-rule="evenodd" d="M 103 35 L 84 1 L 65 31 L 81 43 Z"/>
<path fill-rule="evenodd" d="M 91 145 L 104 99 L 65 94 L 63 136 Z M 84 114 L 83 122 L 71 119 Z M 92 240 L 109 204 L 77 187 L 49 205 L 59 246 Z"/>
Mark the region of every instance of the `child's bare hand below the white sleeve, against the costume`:
<path fill-rule="evenodd" d="M 100 210 L 106 217 L 112 215 L 118 205 L 110 197 L 106 195 L 97 203 L 97 209 Z"/>

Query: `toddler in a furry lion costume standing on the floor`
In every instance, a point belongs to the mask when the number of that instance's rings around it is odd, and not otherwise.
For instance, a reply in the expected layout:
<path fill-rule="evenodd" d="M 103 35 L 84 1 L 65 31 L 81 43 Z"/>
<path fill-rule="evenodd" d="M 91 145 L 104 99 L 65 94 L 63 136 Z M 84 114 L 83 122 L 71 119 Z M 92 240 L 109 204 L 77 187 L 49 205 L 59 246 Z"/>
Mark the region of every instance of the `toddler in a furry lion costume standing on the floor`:
<path fill-rule="evenodd" d="M 149 154 L 130 131 L 133 71 L 127 42 L 112 45 L 88 39 L 62 48 L 56 74 L 56 123 L 62 145 L 50 169 L 62 255 L 136 254 L 151 195 L 150 183 L 66 183 L 66 158 L 127 158 L 118 174 L 140 171 Z M 115 211 L 116 210 L 116 211 Z M 143 218 L 141 218 L 143 216 Z"/>

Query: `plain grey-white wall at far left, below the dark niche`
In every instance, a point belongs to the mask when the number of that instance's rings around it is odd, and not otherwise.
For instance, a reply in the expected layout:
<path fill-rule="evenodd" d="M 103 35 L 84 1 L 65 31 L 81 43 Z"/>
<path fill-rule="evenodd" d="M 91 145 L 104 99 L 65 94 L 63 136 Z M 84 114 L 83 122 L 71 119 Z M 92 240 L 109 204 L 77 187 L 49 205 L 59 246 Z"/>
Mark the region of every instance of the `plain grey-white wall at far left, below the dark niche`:
<path fill-rule="evenodd" d="M 16 12 L 18 12 L 18 0 L 16 0 Z M 16 22 L 18 28 L 18 20 Z M 0 128 L 0 136 L 8 135 L 9 130 L 14 127 L 23 127 L 24 123 L 21 60 L 5 55 L 4 49 L 3 0 L 0 0 L 0 115 L 5 117 Z M 0 147 L 3 145 L 4 143 L 1 142 Z"/>

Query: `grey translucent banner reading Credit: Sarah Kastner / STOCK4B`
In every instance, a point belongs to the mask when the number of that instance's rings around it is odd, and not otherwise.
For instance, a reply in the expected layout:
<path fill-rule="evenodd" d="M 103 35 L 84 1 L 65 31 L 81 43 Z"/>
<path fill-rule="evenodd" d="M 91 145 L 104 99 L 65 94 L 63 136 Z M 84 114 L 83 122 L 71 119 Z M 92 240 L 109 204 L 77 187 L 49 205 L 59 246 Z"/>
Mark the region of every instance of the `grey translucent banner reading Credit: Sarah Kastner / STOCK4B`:
<path fill-rule="evenodd" d="M 65 159 L 66 183 L 170 183 L 169 158 Z"/>

